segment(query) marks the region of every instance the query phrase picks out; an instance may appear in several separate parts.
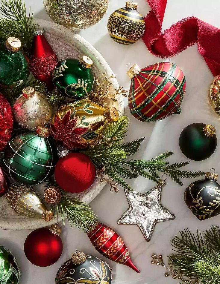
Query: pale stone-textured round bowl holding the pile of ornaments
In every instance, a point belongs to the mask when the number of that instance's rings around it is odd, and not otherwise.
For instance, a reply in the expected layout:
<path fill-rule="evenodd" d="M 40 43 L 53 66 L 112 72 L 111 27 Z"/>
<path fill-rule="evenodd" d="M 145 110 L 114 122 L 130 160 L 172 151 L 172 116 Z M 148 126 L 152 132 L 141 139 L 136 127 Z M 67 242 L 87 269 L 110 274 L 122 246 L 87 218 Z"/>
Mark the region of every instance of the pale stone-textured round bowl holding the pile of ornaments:
<path fill-rule="evenodd" d="M 73 31 L 41 19 L 34 19 L 34 22 L 39 24 L 45 30 L 45 37 L 53 47 L 57 54 L 58 59 L 63 58 L 81 58 L 82 55 L 91 57 L 93 61 L 92 71 L 97 79 L 102 79 L 102 73 L 107 72 L 107 75 L 111 75 L 113 71 L 101 56 L 100 53 L 83 39 L 80 35 Z M 119 87 L 116 79 L 113 80 L 113 88 Z M 124 114 L 124 104 L 121 97 L 118 98 L 118 102 L 112 102 L 110 105 L 114 105 L 122 114 Z M 99 179 L 95 180 L 93 185 L 85 192 L 79 194 L 72 194 L 73 197 L 80 199 L 86 203 L 89 203 L 94 199 L 98 193 L 104 188 L 105 182 L 100 183 Z M 34 187 L 35 190 L 43 197 L 44 186 L 39 185 Z M 16 214 L 7 203 L 4 197 L 0 198 L 0 228 L 7 230 L 27 230 L 45 227 L 54 222 L 45 222 L 43 219 L 28 218 L 22 215 Z M 49 206 L 48 206 L 49 208 Z M 50 208 L 49 208 L 50 209 Z"/>

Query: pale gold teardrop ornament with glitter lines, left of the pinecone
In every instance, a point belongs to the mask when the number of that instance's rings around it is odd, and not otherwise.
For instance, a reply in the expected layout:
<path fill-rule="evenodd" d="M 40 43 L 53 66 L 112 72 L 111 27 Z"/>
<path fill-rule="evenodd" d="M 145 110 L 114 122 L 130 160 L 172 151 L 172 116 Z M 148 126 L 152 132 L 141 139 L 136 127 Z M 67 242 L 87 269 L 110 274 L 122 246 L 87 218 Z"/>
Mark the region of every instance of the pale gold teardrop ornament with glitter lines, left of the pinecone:
<path fill-rule="evenodd" d="M 43 218 L 47 222 L 53 219 L 53 212 L 47 210 L 43 201 L 31 186 L 10 184 L 5 198 L 10 207 L 19 215 Z"/>

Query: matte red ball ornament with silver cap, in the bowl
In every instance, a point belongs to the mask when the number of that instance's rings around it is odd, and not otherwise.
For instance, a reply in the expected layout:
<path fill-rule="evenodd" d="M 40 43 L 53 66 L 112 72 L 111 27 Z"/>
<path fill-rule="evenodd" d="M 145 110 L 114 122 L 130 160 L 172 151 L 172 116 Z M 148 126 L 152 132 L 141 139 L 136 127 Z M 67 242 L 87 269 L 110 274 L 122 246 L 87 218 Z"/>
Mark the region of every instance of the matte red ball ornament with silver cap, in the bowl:
<path fill-rule="evenodd" d="M 96 169 L 88 156 L 69 153 L 64 148 L 55 167 L 57 184 L 65 191 L 77 193 L 87 190 L 95 180 Z"/>

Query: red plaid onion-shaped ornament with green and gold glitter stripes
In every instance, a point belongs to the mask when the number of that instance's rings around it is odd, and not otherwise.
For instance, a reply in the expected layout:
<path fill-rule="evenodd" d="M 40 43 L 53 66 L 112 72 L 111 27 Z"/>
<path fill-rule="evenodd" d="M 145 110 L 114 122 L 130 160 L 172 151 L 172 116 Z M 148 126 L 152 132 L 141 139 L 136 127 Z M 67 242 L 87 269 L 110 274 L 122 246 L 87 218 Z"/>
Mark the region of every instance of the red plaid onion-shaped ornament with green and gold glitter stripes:
<path fill-rule="evenodd" d="M 186 79 L 177 65 L 160 62 L 142 69 L 133 65 L 127 74 L 131 78 L 128 105 L 134 117 L 153 122 L 181 112 Z"/>

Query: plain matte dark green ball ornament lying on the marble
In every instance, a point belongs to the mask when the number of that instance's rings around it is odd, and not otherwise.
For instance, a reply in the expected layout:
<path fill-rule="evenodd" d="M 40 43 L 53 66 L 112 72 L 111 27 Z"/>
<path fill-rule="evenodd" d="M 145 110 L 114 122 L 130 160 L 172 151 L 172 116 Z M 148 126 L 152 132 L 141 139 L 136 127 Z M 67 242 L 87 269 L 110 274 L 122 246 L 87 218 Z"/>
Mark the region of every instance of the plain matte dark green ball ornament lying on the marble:
<path fill-rule="evenodd" d="M 217 138 L 215 133 L 216 130 L 213 125 L 190 124 L 180 134 L 180 150 L 191 160 L 205 160 L 216 150 Z"/>

